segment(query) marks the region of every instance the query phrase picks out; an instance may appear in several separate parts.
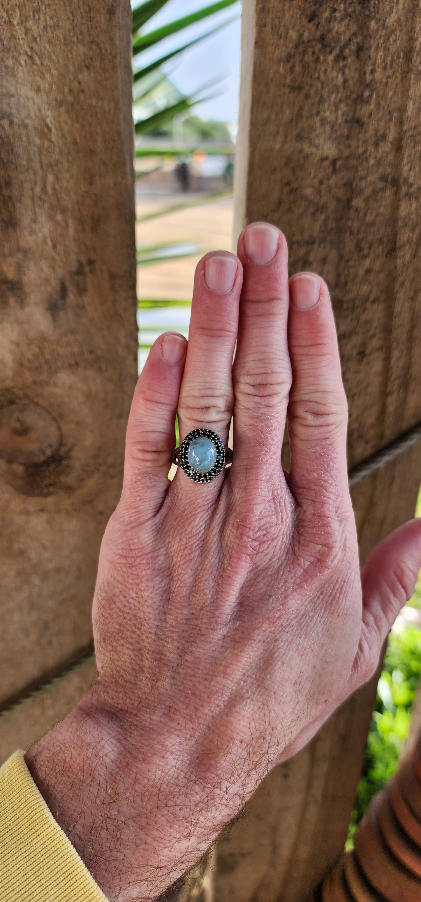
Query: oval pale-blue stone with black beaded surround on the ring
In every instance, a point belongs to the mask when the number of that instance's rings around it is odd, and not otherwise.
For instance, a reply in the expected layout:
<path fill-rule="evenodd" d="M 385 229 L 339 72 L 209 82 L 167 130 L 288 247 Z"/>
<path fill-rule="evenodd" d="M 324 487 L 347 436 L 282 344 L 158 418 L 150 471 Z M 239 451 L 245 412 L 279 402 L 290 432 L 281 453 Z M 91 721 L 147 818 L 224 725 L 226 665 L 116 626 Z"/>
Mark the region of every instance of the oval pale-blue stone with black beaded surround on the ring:
<path fill-rule="evenodd" d="M 194 483 L 211 483 L 224 466 L 232 463 L 233 452 L 212 429 L 193 429 L 172 456 Z"/>

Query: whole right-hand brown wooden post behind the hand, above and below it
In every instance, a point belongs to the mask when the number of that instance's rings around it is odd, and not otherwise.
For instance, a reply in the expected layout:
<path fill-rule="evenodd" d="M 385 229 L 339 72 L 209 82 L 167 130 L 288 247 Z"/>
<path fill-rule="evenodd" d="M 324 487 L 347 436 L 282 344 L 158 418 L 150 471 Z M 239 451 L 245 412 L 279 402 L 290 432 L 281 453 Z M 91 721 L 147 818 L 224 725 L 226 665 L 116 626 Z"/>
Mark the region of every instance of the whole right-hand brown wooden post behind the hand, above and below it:
<path fill-rule="evenodd" d="M 243 0 L 236 231 L 267 220 L 329 284 L 362 560 L 421 482 L 421 17 Z M 376 679 L 274 769 L 217 851 L 216 902 L 305 902 L 343 849 Z"/>

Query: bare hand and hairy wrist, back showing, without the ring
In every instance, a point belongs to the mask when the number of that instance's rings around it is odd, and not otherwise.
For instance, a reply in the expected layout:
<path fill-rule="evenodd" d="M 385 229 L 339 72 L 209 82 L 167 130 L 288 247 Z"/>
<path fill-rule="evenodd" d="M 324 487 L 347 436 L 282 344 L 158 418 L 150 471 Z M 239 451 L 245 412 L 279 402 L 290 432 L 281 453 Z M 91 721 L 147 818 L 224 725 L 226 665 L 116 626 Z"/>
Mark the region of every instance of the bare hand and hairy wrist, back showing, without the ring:
<path fill-rule="evenodd" d="M 233 416 L 233 465 L 214 482 L 178 469 L 169 483 L 177 411 L 181 438 L 206 426 L 225 444 Z M 27 755 L 110 898 L 167 888 L 375 670 L 421 521 L 361 579 L 346 420 L 324 281 L 288 284 L 284 236 L 248 226 L 238 259 L 198 264 L 188 346 L 169 334 L 151 349 L 99 560 L 99 681 Z"/>

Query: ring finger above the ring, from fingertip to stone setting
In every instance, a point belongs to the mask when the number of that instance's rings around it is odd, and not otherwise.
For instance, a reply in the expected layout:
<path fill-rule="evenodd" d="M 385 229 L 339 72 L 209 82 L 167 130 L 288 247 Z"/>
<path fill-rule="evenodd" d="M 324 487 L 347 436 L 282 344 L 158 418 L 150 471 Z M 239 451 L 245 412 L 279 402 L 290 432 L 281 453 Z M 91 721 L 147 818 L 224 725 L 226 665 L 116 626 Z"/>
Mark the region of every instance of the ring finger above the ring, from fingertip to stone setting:
<path fill-rule="evenodd" d="M 241 264 L 232 253 L 207 254 L 197 265 L 178 402 L 181 440 L 200 427 L 213 429 L 224 444 L 228 440 L 242 279 Z"/>

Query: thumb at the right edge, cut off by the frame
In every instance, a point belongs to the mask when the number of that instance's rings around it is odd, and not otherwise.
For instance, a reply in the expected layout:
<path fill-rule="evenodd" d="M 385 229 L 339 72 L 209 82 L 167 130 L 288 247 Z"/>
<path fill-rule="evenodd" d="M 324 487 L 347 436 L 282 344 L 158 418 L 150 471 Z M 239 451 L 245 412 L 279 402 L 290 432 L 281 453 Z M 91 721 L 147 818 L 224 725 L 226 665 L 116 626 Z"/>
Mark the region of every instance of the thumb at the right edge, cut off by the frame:
<path fill-rule="evenodd" d="M 409 520 L 373 548 L 362 567 L 362 642 L 355 661 L 362 682 L 377 667 L 398 612 L 414 594 L 421 568 L 421 518 Z"/>

